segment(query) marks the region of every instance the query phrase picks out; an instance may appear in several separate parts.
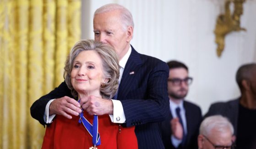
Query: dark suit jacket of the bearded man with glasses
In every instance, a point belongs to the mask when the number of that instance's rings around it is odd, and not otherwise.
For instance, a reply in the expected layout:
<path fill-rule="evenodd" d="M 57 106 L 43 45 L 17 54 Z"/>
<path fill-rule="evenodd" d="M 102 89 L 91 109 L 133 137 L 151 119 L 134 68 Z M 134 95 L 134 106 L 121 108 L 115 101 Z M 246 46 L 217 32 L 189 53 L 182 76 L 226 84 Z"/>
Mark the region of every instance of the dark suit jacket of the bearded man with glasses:
<path fill-rule="evenodd" d="M 177 149 L 198 149 L 197 136 L 199 134 L 199 127 L 202 122 L 201 109 L 190 102 L 184 101 L 183 106 L 185 108 L 185 117 L 187 122 L 187 135 L 184 146 L 181 144 Z M 162 136 L 165 149 L 176 149 L 171 143 L 171 126 L 170 120 L 173 118 L 171 114 L 162 123 Z"/>

